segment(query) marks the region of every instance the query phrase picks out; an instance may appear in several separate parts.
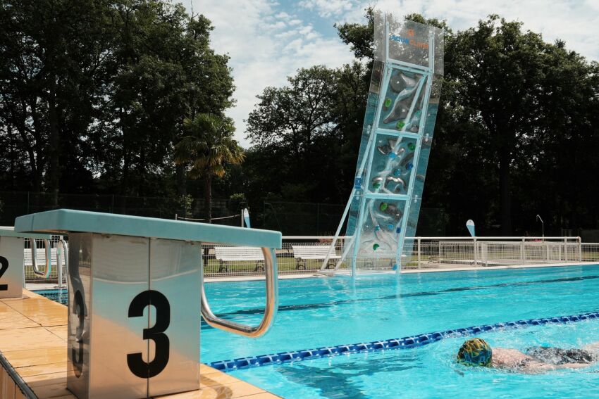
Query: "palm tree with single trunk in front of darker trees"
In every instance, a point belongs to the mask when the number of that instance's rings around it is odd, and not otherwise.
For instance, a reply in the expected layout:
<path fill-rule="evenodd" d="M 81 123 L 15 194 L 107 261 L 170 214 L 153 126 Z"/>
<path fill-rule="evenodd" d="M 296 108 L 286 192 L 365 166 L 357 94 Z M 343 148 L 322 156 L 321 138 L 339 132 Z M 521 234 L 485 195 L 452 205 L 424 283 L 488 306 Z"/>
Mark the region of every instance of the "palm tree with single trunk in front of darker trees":
<path fill-rule="evenodd" d="M 191 164 L 190 178 L 204 177 L 206 222 L 212 222 L 212 177 L 223 177 L 225 165 L 239 165 L 245 155 L 233 139 L 235 127 L 230 118 L 211 113 L 199 113 L 193 119 L 185 118 L 187 135 L 175 145 L 175 163 Z"/>

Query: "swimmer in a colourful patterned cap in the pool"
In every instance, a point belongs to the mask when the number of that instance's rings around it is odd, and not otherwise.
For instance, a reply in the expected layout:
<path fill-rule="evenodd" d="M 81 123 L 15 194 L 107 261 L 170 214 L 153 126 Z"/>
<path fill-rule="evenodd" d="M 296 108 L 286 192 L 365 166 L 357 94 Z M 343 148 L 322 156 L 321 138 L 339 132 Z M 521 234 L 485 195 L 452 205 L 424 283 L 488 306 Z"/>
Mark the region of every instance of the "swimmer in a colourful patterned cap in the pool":
<path fill-rule="evenodd" d="M 468 366 L 493 367 L 524 373 L 579 369 L 599 361 L 599 342 L 581 349 L 534 346 L 527 348 L 525 352 L 511 348 L 491 348 L 485 340 L 471 338 L 459 348 L 457 362 Z"/>

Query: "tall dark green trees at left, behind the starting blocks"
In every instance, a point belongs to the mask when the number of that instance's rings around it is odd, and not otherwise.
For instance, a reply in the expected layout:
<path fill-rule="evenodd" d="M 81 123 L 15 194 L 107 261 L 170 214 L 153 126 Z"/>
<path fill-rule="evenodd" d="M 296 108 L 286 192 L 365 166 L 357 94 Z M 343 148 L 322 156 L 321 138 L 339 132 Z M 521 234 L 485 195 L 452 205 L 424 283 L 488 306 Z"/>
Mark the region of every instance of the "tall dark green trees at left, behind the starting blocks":
<path fill-rule="evenodd" d="M 211 30 L 170 1 L 5 2 L 0 182 L 172 195 L 184 118 L 233 103 L 228 56 L 210 49 Z M 183 194 L 185 168 L 176 173 Z"/>

